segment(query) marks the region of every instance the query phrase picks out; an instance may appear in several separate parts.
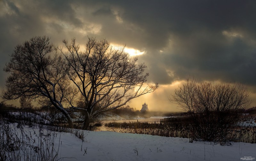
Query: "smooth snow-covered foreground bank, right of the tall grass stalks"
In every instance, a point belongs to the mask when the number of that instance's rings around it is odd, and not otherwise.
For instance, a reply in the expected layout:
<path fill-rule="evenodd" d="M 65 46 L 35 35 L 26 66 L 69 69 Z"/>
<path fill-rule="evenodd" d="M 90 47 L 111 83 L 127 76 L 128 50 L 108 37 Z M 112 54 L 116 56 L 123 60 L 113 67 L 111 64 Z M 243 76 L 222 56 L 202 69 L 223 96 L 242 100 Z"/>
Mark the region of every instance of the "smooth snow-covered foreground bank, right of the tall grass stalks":
<path fill-rule="evenodd" d="M 34 132 L 27 126 L 24 131 Z M 60 139 L 59 158 L 66 161 L 230 161 L 256 157 L 256 144 L 251 143 L 221 146 L 210 142 L 189 143 L 187 138 L 110 131 L 84 131 L 84 136 L 85 142 L 82 142 L 74 134 L 57 133 L 54 146 L 57 149 Z"/>

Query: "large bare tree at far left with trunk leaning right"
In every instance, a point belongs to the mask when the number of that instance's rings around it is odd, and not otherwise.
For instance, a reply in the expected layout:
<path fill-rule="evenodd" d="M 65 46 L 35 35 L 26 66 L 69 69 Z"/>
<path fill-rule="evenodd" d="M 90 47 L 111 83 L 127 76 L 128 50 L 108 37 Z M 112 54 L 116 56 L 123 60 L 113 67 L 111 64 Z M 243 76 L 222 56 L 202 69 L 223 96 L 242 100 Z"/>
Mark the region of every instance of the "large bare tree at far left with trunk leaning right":
<path fill-rule="evenodd" d="M 4 100 L 27 97 L 48 102 L 62 112 L 72 127 L 71 117 L 64 108 L 66 97 L 74 95 L 63 70 L 64 60 L 50 38 L 33 37 L 15 47 L 4 71 L 10 73 L 3 91 Z"/>

